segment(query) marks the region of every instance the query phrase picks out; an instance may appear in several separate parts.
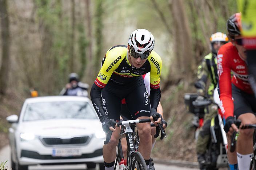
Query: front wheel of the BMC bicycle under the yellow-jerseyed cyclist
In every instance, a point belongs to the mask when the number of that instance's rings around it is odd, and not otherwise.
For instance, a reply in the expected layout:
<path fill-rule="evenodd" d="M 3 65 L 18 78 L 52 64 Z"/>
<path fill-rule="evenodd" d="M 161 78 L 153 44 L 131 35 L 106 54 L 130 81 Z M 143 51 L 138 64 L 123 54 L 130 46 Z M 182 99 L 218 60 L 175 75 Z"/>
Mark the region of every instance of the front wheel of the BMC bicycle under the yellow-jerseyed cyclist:
<path fill-rule="evenodd" d="M 146 162 L 139 152 L 133 152 L 131 155 L 132 170 L 147 170 Z"/>

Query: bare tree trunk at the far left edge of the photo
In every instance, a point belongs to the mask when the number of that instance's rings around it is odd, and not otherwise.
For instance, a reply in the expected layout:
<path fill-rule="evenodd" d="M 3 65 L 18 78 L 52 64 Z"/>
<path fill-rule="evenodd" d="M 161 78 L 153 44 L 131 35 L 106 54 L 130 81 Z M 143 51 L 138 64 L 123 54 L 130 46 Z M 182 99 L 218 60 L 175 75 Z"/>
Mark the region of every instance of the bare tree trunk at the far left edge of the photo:
<path fill-rule="evenodd" d="M 1 39 L 2 39 L 2 63 L 0 69 L 0 94 L 6 93 L 8 84 L 8 72 L 10 68 L 10 36 L 9 16 L 7 0 L 0 0 Z"/>

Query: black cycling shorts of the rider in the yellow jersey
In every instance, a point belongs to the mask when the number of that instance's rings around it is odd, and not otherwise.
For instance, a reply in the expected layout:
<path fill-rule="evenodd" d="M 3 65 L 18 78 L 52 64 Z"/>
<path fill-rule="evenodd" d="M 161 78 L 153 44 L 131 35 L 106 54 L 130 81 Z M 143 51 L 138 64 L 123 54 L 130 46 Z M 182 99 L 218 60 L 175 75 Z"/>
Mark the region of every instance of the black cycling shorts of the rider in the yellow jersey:
<path fill-rule="evenodd" d="M 149 96 L 144 80 L 138 77 L 132 84 L 116 85 L 111 81 L 101 90 L 103 109 L 109 119 L 120 120 L 121 100 L 125 98 L 133 119 L 150 116 Z"/>

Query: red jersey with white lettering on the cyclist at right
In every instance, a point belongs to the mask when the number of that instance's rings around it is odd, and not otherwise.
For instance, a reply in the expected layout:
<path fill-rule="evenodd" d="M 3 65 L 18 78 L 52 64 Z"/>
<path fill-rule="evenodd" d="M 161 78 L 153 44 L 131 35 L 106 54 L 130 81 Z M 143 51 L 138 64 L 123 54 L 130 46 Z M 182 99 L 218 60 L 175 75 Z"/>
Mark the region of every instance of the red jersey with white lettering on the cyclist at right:
<path fill-rule="evenodd" d="M 234 105 L 232 101 L 231 82 L 245 93 L 252 94 L 253 91 L 248 82 L 248 69 L 231 42 L 220 47 L 217 55 L 217 67 L 219 71 L 220 109 L 225 118 L 233 116 Z M 233 78 L 231 80 L 231 71 Z"/>

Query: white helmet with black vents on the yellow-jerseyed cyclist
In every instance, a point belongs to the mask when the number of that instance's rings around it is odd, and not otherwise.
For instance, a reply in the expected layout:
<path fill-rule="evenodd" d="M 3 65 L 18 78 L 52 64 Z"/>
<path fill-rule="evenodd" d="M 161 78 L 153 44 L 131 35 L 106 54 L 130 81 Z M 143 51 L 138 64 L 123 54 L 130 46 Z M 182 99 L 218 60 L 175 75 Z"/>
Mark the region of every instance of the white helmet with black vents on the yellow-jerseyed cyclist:
<path fill-rule="evenodd" d="M 155 39 L 148 30 L 138 29 L 132 32 L 128 44 L 136 53 L 143 54 L 153 50 Z"/>

